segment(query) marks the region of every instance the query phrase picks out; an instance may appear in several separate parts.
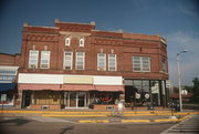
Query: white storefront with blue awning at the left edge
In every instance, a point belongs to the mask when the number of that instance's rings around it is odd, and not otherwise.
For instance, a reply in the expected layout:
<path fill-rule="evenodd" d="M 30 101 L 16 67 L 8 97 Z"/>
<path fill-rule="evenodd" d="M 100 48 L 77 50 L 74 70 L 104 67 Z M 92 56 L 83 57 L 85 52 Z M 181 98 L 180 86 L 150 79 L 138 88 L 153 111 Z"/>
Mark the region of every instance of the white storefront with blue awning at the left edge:
<path fill-rule="evenodd" d="M 6 107 L 14 105 L 17 72 L 18 66 L 0 66 L 0 104 Z"/>

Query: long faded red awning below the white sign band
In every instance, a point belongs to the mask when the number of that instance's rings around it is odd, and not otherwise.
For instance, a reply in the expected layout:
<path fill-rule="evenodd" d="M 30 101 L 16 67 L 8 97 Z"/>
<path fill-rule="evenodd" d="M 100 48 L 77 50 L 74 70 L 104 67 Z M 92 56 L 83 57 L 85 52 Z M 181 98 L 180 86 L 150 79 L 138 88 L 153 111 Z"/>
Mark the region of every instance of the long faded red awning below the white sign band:
<path fill-rule="evenodd" d="M 123 85 L 84 85 L 84 84 L 18 84 L 19 90 L 53 90 L 53 91 L 106 91 L 124 92 Z"/>

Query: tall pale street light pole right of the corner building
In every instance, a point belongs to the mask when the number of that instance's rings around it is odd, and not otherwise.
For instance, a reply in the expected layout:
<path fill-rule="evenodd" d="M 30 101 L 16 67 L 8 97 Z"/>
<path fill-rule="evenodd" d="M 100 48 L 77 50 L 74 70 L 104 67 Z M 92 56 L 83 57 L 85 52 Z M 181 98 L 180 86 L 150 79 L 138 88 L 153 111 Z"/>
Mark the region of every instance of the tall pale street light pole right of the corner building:
<path fill-rule="evenodd" d="M 180 112 L 182 112 L 182 101 L 181 101 L 181 74 L 180 74 L 180 64 L 179 64 L 179 56 L 181 53 L 187 52 L 188 50 L 182 50 L 181 52 L 177 53 L 177 68 L 178 68 L 178 87 L 179 87 L 179 105 Z"/>

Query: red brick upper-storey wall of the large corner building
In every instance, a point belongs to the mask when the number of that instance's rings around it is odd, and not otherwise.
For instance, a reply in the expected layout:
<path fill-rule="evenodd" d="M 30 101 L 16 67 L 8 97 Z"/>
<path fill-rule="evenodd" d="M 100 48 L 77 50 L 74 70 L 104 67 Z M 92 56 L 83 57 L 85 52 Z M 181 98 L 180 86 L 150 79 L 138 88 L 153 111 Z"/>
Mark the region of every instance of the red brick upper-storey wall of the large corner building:
<path fill-rule="evenodd" d="M 161 73 L 161 60 L 167 61 L 167 45 L 160 41 L 159 35 L 133 34 L 123 32 L 109 32 L 94 30 L 93 24 L 55 22 L 55 27 L 23 27 L 22 53 L 20 72 L 27 73 L 60 73 L 60 74 L 91 74 L 91 75 L 123 75 L 135 79 L 168 79 L 167 73 Z M 64 40 L 71 37 L 71 45 L 65 47 Z M 85 47 L 78 47 L 78 40 L 85 39 Z M 28 69 L 29 51 L 32 49 L 40 52 L 48 48 L 51 51 L 50 69 Z M 73 52 L 73 70 L 63 70 L 63 52 Z M 75 70 L 75 52 L 85 52 L 85 70 Z M 117 71 L 97 71 L 97 53 L 117 54 Z M 41 53 L 40 53 L 41 54 Z M 148 73 L 133 72 L 133 55 L 150 58 Z M 40 58 L 39 55 L 39 65 Z M 108 59 L 106 59 L 108 61 Z M 168 63 L 168 62 L 167 62 Z M 168 66 L 168 65 L 167 65 Z M 168 68 L 167 68 L 168 70 Z"/>

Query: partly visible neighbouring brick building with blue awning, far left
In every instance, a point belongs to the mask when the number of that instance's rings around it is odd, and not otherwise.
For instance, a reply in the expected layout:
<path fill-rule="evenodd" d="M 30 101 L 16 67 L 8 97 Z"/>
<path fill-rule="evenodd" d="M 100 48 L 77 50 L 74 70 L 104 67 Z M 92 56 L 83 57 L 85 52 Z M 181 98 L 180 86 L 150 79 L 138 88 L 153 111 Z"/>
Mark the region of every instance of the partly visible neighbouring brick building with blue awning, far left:
<path fill-rule="evenodd" d="M 0 53 L 0 103 L 14 106 L 17 99 L 17 74 L 20 66 L 20 54 Z"/>

